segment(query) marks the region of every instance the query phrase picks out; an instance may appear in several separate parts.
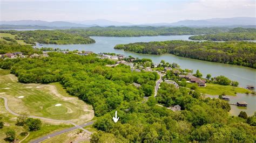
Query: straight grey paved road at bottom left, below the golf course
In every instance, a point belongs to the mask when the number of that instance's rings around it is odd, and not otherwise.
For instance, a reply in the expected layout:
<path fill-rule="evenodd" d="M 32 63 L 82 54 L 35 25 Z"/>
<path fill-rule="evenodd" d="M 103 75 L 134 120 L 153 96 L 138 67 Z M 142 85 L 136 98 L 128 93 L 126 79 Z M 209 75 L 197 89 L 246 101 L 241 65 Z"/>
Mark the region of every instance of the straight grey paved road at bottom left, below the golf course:
<path fill-rule="evenodd" d="M 85 124 L 82 124 L 82 125 L 79 125 L 80 127 L 85 127 L 85 126 L 89 126 L 89 125 L 92 125 L 94 123 L 94 120 L 93 121 L 89 121 L 88 123 L 85 123 Z M 74 126 L 74 127 L 70 127 L 70 128 L 66 128 L 64 130 L 61 130 L 61 131 L 58 131 L 58 132 L 55 132 L 55 133 L 52 133 L 52 134 L 48 134 L 48 135 L 45 135 L 44 137 L 42 138 L 39 138 L 39 139 L 36 139 L 36 140 L 33 140 L 31 141 L 31 143 L 37 143 L 37 142 L 42 142 L 46 139 L 50 139 L 52 137 L 55 137 L 56 135 L 59 135 L 59 134 L 62 134 L 62 133 L 66 133 L 66 132 L 70 132 L 72 130 L 76 130 L 78 127 Z"/>

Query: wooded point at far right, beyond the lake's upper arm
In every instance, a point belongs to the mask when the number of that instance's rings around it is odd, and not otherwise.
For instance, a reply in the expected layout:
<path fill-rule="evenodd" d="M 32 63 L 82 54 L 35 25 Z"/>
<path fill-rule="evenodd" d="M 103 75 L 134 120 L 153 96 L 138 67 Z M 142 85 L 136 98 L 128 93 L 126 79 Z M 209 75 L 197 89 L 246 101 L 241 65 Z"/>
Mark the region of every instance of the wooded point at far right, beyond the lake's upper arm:
<path fill-rule="evenodd" d="M 229 32 L 218 34 L 194 35 L 189 37 L 191 40 L 209 40 L 209 41 L 242 41 L 256 40 L 255 28 L 234 28 Z"/>

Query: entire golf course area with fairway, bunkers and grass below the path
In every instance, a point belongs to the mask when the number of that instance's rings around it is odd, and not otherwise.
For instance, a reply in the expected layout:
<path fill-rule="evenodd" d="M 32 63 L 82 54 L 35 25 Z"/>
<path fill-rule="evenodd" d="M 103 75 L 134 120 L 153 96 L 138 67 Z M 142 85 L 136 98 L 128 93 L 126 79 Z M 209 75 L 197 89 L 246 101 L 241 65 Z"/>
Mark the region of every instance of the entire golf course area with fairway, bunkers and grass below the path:
<path fill-rule="evenodd" d="M 10 70 L 0 69 L 0 96 L 8 100 L 8 107 L 11 111 L 19 115 L 26 113 L 29 116 L 43 118 L 41 130 L 30 132 L 27 137 L 19 135 L 25 132 L 24 128 L 15 125 L 17 116 L 5 109 L 4 100 L 0 98 L 3 130 L 14 128 L 19 140 L 25 138 L 24 142 L 73 126 L 65 121 L 82 124 L 94 117 L 91 105 L 87 105 L 77 97 L 70 96 L 59 83 L 22 84 L 18 82 L 15 75 L 10 74 Z M 4 132 L 0 133 L 0 140 L 4 138 Z"/>

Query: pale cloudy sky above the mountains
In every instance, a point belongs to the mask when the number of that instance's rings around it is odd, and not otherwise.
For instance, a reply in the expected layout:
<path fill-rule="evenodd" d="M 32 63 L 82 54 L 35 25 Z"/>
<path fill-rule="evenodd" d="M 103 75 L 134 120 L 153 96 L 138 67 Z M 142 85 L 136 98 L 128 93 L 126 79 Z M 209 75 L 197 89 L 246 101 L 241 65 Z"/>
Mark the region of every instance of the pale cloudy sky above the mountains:
<path fill-rule="evenodd" d="M 171 23 L 185 19 L 255 17 L 255 1 L 62 1 L 1 0 L 0 20 L 83 21 L 107 19 L 118 22 Z"/>

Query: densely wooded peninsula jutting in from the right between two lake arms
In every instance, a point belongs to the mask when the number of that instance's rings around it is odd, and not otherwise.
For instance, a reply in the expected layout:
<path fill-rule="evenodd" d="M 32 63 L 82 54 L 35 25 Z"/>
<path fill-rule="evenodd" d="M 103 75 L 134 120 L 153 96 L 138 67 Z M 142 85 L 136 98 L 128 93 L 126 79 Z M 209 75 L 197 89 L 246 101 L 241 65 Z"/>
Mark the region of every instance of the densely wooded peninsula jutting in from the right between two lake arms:
<path fill-rule="evenodd" d="M 194 42 L 174 40 L 120 44 L 114 48 L 143 54 L 170 53 L 186 58 L 256 68 L 255 42 Z"/>

